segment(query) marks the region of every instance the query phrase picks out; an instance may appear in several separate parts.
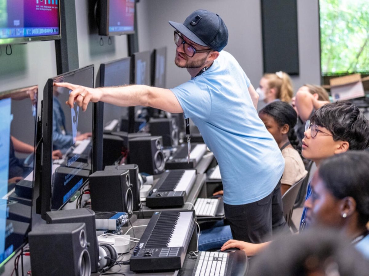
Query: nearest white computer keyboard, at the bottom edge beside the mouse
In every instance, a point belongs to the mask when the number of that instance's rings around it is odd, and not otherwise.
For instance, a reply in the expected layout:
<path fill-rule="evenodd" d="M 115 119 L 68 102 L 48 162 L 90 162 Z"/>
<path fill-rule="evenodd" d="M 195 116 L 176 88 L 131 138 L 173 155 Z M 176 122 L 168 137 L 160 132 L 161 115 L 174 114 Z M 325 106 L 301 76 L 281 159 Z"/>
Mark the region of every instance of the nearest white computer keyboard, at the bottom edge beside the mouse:
<path fill-rule="evenodd" d="M 200 251 L 192 276 L 226 275 L 228 253 Z"/>

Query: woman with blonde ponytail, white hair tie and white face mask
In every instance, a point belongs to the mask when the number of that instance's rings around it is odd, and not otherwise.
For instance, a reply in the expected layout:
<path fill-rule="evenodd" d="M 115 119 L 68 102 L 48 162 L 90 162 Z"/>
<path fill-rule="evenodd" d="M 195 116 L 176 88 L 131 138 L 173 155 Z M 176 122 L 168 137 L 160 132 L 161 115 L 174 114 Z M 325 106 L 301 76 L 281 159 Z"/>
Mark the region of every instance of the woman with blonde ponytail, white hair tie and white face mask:
<path fill-rule="evenodd" d="M 293 96 L 291 78 L 282 71 L 264 74 L 256 92 L 259 94 L 259 101 L 264 103 L 271 103 L 275 100 L 290 103 Z"/>

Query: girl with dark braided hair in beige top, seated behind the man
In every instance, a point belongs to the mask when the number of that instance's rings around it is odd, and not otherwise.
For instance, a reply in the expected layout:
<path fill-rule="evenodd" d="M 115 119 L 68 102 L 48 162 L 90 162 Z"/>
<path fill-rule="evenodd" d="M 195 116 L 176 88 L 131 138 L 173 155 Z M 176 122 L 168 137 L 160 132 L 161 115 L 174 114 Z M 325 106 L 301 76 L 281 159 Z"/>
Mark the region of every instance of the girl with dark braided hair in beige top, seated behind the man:
<path fill-rule="evenodd" d="M 261 109 L 259 117 L 266 129 L 273 135 L 284 157 L 285 166 L 281 179 L 283 195 L 307 174 L 301 156 L 301 143 L 294 131 L 297 114 L 288 103 L 276 101 Z"/>

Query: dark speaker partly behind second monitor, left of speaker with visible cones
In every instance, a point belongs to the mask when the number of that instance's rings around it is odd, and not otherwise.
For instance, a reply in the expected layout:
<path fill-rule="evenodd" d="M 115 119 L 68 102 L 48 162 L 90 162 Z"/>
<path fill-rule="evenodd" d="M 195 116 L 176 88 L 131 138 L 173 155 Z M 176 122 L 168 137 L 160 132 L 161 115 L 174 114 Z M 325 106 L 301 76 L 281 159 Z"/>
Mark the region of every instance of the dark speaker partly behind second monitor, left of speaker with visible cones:
<path fill-rule="evenodd" d="M 103 167 L 113 165 L 121 158 L 127 148 L 124 139 L 111 134 L 103 134 Z"/>

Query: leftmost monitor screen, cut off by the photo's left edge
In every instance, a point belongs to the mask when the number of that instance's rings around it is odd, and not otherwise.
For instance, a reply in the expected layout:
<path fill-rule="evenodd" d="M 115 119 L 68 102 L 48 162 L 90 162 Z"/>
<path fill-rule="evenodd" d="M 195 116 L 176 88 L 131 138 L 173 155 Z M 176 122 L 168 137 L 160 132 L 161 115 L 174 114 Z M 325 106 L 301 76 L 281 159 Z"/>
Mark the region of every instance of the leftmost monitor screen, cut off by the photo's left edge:
<path fill-rule="evenodd" d="M 37 86 L 0 92 L 0 267 L 31 227 Z"/>

